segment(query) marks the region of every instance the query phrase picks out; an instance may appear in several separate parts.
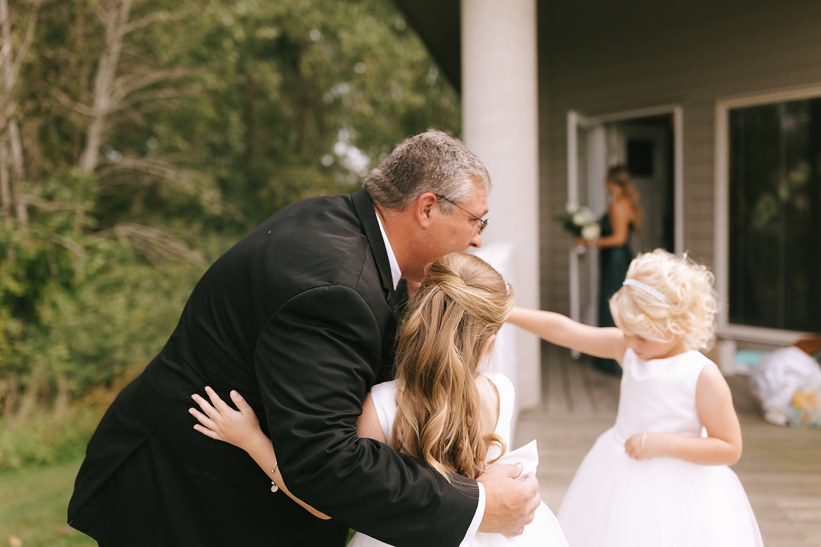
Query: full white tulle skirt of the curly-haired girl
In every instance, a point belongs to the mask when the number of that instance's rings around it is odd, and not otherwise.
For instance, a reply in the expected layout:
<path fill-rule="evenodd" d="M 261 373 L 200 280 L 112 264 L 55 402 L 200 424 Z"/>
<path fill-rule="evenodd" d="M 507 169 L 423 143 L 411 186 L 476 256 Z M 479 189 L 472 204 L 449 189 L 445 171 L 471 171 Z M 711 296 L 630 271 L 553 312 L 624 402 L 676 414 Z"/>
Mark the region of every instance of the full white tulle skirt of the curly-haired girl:
<path fill-rule="evenodd" d="M 759 547 L 750 501 L 726 465 L 635 460 L 609 429 L 558 512 L 571 547 Z"/>

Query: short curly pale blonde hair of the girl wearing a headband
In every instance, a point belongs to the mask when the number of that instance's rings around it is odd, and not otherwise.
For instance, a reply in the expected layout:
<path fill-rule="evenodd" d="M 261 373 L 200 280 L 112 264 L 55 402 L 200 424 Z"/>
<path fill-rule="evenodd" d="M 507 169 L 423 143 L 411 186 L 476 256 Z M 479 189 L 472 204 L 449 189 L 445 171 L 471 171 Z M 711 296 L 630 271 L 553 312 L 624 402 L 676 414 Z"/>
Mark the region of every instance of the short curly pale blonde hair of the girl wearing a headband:
<path fill-rule="evenodd" d="M 627 278 L 658 290 L 666 302 L 639 287 L 622 286 L 610 299 L 610 312 L 626 335 L 660 342 L 681 335 L 690 349 L 713 347 L 718 304 L 707 267 L 657 248 L 634 258 Z"/>

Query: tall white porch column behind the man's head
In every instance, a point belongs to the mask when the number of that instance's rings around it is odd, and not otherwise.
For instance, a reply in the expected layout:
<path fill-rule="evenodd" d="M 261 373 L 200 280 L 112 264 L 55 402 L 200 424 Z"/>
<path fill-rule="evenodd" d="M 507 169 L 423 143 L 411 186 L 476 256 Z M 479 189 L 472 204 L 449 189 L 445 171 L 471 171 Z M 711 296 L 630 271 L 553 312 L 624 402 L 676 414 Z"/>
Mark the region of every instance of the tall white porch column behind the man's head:
<path fill-rule="evenodd" d="M 536 52 L 536 0 L 461 0 L 462 137 L 493 180 L 484 244 L 512 242 L 516 303 L 526 308 L 539 308 Z M 517 329 L 516 356 L 518 403 L 533 407 L 539 340 Z"/>

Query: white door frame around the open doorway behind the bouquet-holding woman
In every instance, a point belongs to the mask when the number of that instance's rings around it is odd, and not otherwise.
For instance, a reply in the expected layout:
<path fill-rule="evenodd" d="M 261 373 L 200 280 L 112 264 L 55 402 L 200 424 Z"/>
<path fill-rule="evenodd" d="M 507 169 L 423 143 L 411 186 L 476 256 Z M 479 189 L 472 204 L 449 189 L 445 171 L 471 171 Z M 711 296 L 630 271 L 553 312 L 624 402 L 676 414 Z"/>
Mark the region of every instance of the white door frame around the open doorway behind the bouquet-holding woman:
<path fill-rule="evenodd" d="M 567 201 L 578 202 L 579 198 L 579 143 L 580 126 L 600 125 L 611 121 L 625 121 L 633 118 L 673 115 L 673 242 L 677 254 L 684 253 L 684 150 L 683 109 L 671 104 L 658 107 L 639 108 L 614 112 L 603 116 L 583 116 L 575 110 L 567 111 Z M 600 151 L 604 153 L 604 151 Z M 602 158 L 604 163 L 604 158 Z M 579 285 L 579 256 L 570 250 L 570 313 L 571 318 L 581 318 L 581 288 Z"/>

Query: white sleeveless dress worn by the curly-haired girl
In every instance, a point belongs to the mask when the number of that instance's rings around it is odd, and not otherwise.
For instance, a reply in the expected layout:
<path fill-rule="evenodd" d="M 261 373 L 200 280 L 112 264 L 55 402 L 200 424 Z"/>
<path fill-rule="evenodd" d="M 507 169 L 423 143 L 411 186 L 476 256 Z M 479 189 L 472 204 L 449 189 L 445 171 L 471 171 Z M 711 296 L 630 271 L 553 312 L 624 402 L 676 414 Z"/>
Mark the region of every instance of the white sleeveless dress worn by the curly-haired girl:
<path fill-rule="evenodd" d="M 763 545 L 730 467 L 625 452 L 625 441 L 644 431 L 702 434 L 695 386 L 704 367 L 715 364 L 697 351 L 644 361 L 627 349 L 616 424 L 585 456 L 559 509 L 571 547 Z"/>

